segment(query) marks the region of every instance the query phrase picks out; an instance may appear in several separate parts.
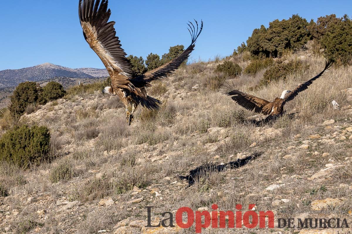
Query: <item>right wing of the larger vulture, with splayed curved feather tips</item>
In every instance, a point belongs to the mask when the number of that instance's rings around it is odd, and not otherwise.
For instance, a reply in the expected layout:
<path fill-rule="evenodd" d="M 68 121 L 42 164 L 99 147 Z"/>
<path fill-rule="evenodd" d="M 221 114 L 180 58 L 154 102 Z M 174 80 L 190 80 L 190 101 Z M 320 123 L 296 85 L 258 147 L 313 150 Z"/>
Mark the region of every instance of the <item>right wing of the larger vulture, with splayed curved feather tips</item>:
<path fill-rule="evenodd" d="M 188 46 L 187 49 L 185 49 L 177 58 L 172 59 L 170 62 L 165 63 L 164 65 L 153 69 L 149 72 L 146 72 L 143 75 L 137 76 L 136 78 L 133 79 L 134 82 L 138 83 L 139 86 L 142 85 L 144 86 L 150 86 L 150 82 L 153 80 L 161 79 L 165 77 L 166 75 L 174 72 L 178 67 L 181 66 L 181 64 L 186 61 L 191 54 L 191 52 L 194 50 L 195 47 L 195 42 L 200 35 L 200 33 L 203 30 L 203 21 L 201 21 L 201 25 L 199 27 L 198 22 L 195 20 L 196 26 L 192 23 L 189 22 L 189 33 L 191 34 L 192 42 L 190 46 Z M 136 84 L 137 86 L 137 84 Z M 139 87 L 138 86 L 138 87 Z"/>

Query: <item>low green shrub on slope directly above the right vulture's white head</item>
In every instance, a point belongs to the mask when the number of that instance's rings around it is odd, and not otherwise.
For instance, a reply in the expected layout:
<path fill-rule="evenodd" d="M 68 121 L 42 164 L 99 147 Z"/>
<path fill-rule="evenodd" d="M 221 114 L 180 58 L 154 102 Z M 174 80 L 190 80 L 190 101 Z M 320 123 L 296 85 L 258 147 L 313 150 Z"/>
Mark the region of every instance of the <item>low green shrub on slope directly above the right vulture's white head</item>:
<path fill-rule="evenodd" d="M 265 71 L 263 79 L 260 80 L 259 86 L 266 86 L 271 82 L 287 79 L 288 75 L 294 73 L 303 73 L 307 71 L 309 65 L 303 63 L 301 60 L 291 60 L 287 63 L 278 61 L 275 66 L 270 67 Z"/>

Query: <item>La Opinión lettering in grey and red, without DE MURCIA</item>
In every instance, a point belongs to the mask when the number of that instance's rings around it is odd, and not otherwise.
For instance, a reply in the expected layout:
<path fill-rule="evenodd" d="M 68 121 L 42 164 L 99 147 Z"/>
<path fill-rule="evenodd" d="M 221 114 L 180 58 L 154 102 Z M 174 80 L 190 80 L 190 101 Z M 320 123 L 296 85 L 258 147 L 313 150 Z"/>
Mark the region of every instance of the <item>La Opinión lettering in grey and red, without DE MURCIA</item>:
<path fill-rule="evenodd" d="M 207 210 L 194 211 L 189 207 L 181 207 L 176 212 L 175 221 L 180 228 L 190 228 L 195 225 L 196 233 L 202 233 L 202 228 L 255 228 L 259 224 L 259 228 L 266 227 L 266 218 L 268 218 L 268 228 L 274 228 L 274 212 L 272 211 L 259 211 L 259 214 L 254 211 L 255 204 L 249 205 L 249 210 L 246 212 L 241 211 L 242 205 L 237 204 L 237 211 L 231 210 L 221 211 L 216 204 L 212 205 L 211 213 Z M 147 206 L 147 226 L 146 227 L 175 227 L 174 216 L 171 212 L 164 212 L 162 214 L 163 220 L 158 225 L 151 224 L 151 211 L 152 206 Z M 187 215 L 187 219 L 183 219 Z M 250 218 L 251 217 L 251 218 Z M 184 221 L 185 220 L 185 221 Z M 186 221 L 187 220 L 187 221 Z M 250 222 L 251 220 L 251 222 Z M 227 222 L 226 222 L 227 221 Z M 226 226 L 227 223 L 227 226 Z"/>

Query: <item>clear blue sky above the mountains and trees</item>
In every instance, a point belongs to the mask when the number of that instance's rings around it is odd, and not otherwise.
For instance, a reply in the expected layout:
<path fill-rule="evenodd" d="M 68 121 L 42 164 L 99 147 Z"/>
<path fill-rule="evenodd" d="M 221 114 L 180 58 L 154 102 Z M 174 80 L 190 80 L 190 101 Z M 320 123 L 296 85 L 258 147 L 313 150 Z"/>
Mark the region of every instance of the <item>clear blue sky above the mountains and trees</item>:
<path fill-rule="evenodd" d="M 203 19 L 204 30 L 191 55 L 208 60 L 227 56 L 254 28 L 299 14 L 308 21 L 327 14 L 352 15 L 352 1 L 290 0 L 109 0 L 111 20 L 127 54 L 162 55 L 170 46 L 188 46 L 187 20 Z M 78 0 L 11 0 L 0 6 L 0 70 L 50 62 L 103 68 L 83 38 Z"/>

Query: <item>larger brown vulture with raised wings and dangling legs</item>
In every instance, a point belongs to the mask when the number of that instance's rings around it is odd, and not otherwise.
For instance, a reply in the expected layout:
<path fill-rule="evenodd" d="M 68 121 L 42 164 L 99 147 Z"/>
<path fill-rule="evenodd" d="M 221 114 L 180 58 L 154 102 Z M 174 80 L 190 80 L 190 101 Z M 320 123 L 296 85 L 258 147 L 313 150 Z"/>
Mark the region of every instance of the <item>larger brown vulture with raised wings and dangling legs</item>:
<path fill-rule="evenodd" d="M 79 17 L 83 28 L 84 39 L 90 48 L 98 54 L 104 63 L 110 77 L 111 87 L 103 89 L 103 93 L 117 95 L 126 107 L 126 118 L 131 125 L 133 113 L 140 104 L 148 109 L 158 109 L 161 101 L 147 95 L 146 87 L 151 86 L 151 81 L 158 80 L 174 72 L 186 61 L 194 50 L 195 42 L 202 32 L 203 21 L 200 27 L 189 22 L 188 31 L 192 41 L 190 46 L 177 58 L 164 65 L 146 72 L 143 75 L 133 76 L 131 63 L 126 59 L 126 53 L 121 48 L 120 40 L 116 36 L 114 21 L 108 22 L 111 15 L 108 9 L 108 0 L 80 0 Z M 132 112 L 128 111 L 128 106 Z"/>

